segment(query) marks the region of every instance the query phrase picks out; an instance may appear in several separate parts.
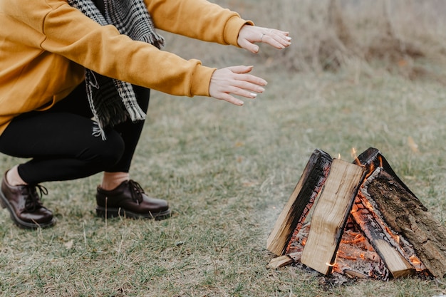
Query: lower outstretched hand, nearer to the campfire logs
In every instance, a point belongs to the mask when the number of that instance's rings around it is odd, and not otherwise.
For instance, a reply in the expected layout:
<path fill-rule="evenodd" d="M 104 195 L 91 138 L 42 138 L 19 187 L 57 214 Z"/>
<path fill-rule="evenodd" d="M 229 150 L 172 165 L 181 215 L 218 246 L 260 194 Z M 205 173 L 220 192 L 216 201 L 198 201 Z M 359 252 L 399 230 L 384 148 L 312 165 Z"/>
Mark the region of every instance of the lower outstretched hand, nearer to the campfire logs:
<path fill-rule="evenodd" d="M 225 100 L 234 105 L 243 105 L 243 101 L 233 95 L 244 98 L 256 98 L 257 93 L 263 93 L 266 80 L 255 75 L 248 74 L 252 66 L 232 66 L 217 69 L 211 78 L 209 95 Z"/>

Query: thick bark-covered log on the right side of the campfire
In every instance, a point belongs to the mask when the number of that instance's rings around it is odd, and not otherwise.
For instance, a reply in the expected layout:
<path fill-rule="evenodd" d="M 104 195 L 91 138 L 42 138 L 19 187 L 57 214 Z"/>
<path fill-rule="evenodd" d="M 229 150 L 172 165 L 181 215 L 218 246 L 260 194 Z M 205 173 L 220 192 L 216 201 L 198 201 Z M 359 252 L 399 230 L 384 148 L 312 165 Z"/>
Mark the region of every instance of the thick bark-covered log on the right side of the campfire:
<path fill-rule="evenodd" d="M 375 213 L 390 231 L 410 243 L 433 276 L 446 277 L 446 229 L 393 172 L 378 150 L 369 149 L 358 159 L 366 166 L 377 167 L 361 188 Z"/>

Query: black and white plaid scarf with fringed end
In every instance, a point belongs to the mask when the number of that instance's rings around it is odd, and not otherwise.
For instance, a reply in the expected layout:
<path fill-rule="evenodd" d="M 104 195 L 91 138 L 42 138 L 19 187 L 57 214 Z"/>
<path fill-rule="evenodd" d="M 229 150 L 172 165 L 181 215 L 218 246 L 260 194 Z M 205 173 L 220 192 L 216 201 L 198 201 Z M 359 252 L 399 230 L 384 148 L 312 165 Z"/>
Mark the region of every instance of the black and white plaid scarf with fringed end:
<path fill-rule="evenodd" d="M 143 0 L 103 0 L 105 14 L 91 0 L 68 0 L 68 4 L 80 10 L 98 24 L 113 25 L 121 34 L 136 41 L 161 48 L 164 38 L 155 33 L 150 14 Z M 103 128 L 123 123 L 125 120 L 144 120 L 145 113 L 136 101 L 130 83 L 108 78 L 89 69 L 85 69 L 88 103 L 97 124 L 93 127 L 93 135 L 105 140 Z"/>

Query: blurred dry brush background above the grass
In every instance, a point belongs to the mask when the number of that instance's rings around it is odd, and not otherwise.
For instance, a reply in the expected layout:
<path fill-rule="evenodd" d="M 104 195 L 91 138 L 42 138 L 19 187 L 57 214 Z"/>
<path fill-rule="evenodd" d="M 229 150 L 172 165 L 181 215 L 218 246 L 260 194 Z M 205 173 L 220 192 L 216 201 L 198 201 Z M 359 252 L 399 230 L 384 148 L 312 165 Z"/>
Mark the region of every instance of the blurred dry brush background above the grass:
<path fill-rule="evenodd" d="M 257 26 L 289 31 L 292 46 L 286 51 L 263 46 L 254 56 L 230 46 L 203 46 L 165 33 L 167 51 L 199 58 L 207 66 L 244 63 L 291 72 L 384 68 L 410 79 L 446 82 L 441 75 L 446 55 L 445 1 L 212 1 Z"/>

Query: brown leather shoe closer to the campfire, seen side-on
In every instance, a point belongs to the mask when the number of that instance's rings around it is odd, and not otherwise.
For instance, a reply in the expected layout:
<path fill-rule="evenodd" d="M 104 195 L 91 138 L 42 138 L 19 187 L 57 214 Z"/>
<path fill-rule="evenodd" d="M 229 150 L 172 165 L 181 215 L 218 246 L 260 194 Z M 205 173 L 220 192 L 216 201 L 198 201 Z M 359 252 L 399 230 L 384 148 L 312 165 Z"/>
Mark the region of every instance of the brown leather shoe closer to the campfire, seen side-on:
<path fill-rule="evenodd" d="M 100 217 L 131 217 L 136 219 L 167 219 L 167 201 L 148 197 L 138 182 L 128 180 L 111 191 L 98 187 L 96 214 Z"/>

